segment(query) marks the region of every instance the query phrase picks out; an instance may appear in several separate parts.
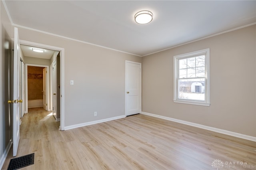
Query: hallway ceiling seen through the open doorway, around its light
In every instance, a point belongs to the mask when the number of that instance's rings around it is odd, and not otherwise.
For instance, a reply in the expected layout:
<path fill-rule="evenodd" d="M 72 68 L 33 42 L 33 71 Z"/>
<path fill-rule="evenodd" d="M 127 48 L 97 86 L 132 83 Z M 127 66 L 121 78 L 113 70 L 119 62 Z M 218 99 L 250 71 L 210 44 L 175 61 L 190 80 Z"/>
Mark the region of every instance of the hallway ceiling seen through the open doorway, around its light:
<path fill-rule="evenodd" d="M 43 58 L 43 59 L 51 59 L 52 55 L 55 51 L 50 49 L 44 49 L 44 53 L 38 53 L 35 51 L 32 51 L 31 46 L 28 45 L 20 45 L 20 48 L 22 49 L 22 53 L 25 57 L 36 57 L 36 58 Z"/>

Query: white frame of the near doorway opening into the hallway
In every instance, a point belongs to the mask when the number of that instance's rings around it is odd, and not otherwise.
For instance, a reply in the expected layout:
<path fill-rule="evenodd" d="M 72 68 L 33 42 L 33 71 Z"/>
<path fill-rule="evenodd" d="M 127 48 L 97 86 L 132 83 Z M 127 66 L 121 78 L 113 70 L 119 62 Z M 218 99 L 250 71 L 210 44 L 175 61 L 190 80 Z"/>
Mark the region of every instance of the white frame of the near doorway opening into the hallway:
<path fill-rule="evenodd" d="M 20 44 L 22 45 L 30 45 L 34 47 L 41 47 L 41 48 L 46 48 L 46 49 L 51 49 L 54 51 L 60 51 L 60 130 L 65 130 L 64 126 L 64 48 L 61 47 L 56 47 L 52 45 L 46 45 L 42 43 L 36 43 L 36 42 L 29 42 L 26 40 L 20 40 Z M 48 76 L 49 77 L 49 76 Z"/>

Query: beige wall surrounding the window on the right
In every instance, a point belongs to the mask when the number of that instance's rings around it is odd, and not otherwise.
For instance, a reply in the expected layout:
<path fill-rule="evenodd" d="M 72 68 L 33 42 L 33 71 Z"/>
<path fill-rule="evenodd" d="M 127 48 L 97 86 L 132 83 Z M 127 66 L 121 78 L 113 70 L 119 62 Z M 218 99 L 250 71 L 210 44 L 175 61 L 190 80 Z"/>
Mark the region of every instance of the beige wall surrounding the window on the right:
<path fill-rule="evenodd" d="M 142 111 L 256 136 L 256 25 L 142 59 Z M 173 56 L 210 48 L 210 107 L 173 102 Z"/>

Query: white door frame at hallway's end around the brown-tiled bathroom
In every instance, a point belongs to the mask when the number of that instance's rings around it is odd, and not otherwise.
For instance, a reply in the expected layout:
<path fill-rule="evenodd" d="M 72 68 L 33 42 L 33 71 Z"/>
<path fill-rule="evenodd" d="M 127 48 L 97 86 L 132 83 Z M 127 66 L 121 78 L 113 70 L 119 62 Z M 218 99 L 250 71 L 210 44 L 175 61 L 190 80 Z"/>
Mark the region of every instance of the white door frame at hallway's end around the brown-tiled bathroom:
<path fill-rule="evenodd" d="M 39 64 L 25 64 L 25 95 L 26 95 L 26 106 L 25 106 L 25 113 L 28 113 L 28 66 L 34 66 L 34 67 L 45 67 L 47 68 L 47 87 L 46 87 L 46 91 L 47 91 L 47 104 L 50 103 L 50 86 L 49 86 L 49 82 L 50 82 L 50 79 L 49 79 L 49 65 L 39 65 Z M 47 111 L 51 111 L 50 110 L 50 106 L 47 105 Z"/>

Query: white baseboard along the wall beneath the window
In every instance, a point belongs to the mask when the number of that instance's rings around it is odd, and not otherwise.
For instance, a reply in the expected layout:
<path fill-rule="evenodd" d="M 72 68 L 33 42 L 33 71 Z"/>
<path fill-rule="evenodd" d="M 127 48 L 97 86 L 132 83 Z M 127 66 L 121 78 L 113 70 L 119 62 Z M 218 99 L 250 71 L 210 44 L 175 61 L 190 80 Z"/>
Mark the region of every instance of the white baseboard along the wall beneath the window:
<path fill-rule="evenodd" d="M 231 132 L 231 131 L 223 130 L 223 129 L 220 129 L 220 128 L 208 127 L 208 126 L 200 125 L 200 124 L 197 124 L 197 123 L 192 123 L 192 122 L 182 121 L 182 120 L 179 120 L 179 119 L 173 119 L 173 118 L 170 118 L 170 117 L 155 115 L 155 114 L 152 114 L 152 113 L 142 112 L 141 114 L 143 114 L 143 115 L 148 115 L 148 116 L 152 116 L 152 117 L 158 117 L 158 118 L 160 118 L 160 119 L 166 119 L 166 120 L 168 120 L 168 121 L 173 121 L 173 122 L 177 122 L 177 123 L 182 123 L 182 124 L 184 124 L 184 125 L 189 125 L 189 126 L 192 126 L 192 127 L 198 127 L 198 128 L 210 130 L 210 131 L 213 131 L 213 132 L 218 132 L 218 133 L 222 133 L 222 134 L 227 134 L 227 135 L 230 135 L 230 136 L 235 136 L 235 137 L 238 137 L 238 138 L 242 138 L 242 139 L 251 140 L 251 141 L 256 142 L 256 137 L 254 137 L 254 136 L 248 136 L 248 135 L 245 135 L 245 134 L 240 134 L 240 133 L 236 133 L 236 132 Z"/>

